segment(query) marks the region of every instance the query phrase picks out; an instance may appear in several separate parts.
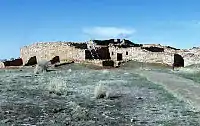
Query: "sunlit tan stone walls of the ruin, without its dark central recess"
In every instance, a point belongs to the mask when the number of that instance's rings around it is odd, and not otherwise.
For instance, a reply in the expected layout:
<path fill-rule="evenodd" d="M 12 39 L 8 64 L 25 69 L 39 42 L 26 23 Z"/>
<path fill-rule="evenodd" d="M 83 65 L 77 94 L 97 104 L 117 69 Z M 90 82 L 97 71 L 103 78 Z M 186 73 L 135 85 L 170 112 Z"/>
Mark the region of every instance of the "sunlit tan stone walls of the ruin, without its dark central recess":
<path fill-rule="evenodd" d="M 59 56 L 59 60 L 61 62 L 66 60 L 82 62 L 85 61 L 85 58 L 87 58 L 85 55 L 85 51 L 87 50 L 86 48 L 95 49 L 97 47 L 104 47 L 102 45 L 98 46 L 92 42 L 88 42 L 87 44 L 74 44 L 69 42 L 35 43 L 33 45 L 21 48 L 20 57 L 23 60 L 23 64 L 26 64 L 28 60 L 34 56 L 36 56 L 37 61 L 41 61 L 43 59 L 50 61 L 54 57 Z M 164 51 L 152 52 L 146 50 L 145 48 L 143 49 L 142 47 L 158 47 L 163 48 Z M 185 66 L 200 63 L 200 48 L 177 50 L 175 48 L 169 48 L 159 44 L 145 44 L 142 47 L 122 48 L 120 46 L 109 45 L 110 58 L 113 61 L 117 61 L 117 54 L 119 54 L 122 55 L 123 61 L 134 60 L 139 62 L 161 63 L 172 66 L 174 63 L 174 54 L 176 53 L 183 57 Z M 89 56 L 87 59 L 91 59 L 91 56 Z M 88 60 L 88 62 L 102 64 L 100 60 Z"/>

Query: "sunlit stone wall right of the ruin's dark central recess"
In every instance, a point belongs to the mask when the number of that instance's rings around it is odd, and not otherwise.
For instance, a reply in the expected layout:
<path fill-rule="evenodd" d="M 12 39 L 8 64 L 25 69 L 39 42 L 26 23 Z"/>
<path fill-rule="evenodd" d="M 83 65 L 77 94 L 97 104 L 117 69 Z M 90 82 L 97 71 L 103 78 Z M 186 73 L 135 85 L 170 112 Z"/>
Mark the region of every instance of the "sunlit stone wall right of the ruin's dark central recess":
<path fill-rule="evenodd" d="M 109 47 L 111 59 L 117 61 L 117 53 L 121 53 L 123 61 L 134 60 L 148 63 L 161 63 L 172 66 L 174 54 L 179 54 L 184 59 L 184 65 L 200 64 L 200 49 L 178 50 L 161 45 L 145 45 L 145 47 L 155 46 L 164 48 L 164 52 L 150 52 L 140 47 L 117 48 Z M 126 53 L 128 52 L 128 55 Z"/>

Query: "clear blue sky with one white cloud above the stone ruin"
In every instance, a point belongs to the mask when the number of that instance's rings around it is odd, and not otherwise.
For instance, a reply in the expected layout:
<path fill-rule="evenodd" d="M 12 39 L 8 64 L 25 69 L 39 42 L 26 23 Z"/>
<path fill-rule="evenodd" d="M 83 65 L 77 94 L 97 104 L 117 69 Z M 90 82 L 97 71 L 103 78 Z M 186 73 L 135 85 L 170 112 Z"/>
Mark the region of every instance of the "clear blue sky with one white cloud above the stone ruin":
<path fill-rule="evenodd" d="M 126 38 L 200 46 L 198 0 L 0 0 L 0 59 L 38 41 Z"/>

